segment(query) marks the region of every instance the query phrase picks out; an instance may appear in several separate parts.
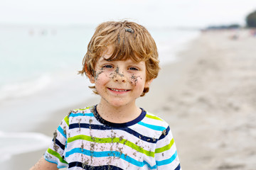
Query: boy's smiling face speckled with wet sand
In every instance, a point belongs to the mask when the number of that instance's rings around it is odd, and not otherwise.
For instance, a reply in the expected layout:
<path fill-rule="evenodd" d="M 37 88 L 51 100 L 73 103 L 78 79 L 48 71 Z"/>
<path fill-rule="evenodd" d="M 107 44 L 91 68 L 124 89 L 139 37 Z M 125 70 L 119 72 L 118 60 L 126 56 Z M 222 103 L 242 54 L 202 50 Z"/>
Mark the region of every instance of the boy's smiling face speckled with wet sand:
<path fill-rule="evenodd" d="M 95 77 L 90 81 L 95 84 L 97 93 L 105 103 L 114 107 L 135 105 L 135 100 L 141 96 L 146 82 L 145 62 L 132 60 L 109 61 L 110 49 L 103 53 L 95 66 Z"/>

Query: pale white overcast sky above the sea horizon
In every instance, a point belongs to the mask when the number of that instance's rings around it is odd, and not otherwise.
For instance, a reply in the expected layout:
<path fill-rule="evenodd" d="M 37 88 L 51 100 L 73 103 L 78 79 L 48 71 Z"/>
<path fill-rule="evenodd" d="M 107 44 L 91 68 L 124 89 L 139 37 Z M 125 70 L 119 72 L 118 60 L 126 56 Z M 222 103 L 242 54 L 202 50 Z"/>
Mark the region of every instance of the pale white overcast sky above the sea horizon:
<path fill-rule="evenodd" d="M 256 0 L 0 0 L 0 23 L 98 24 L 129 18 L 146 26 L 245 24 Z"/>

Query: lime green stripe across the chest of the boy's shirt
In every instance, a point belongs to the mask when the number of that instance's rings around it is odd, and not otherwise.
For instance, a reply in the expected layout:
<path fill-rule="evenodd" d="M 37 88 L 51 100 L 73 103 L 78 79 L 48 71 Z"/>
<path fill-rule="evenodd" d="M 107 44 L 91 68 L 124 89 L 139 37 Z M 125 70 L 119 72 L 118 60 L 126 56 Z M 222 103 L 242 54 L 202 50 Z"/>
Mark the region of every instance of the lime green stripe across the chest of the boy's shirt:
<path fill-rule="evenodd" d="M 154 157 L 154 152 L 147 151 L 142 147 L 139 147 L 128 140 L 124 140 L 124 139 L 120 140 L 119 137 L 99 138 L 99 137 L 90 137 L 87 135 L 77 135 L 74 137 L 69 137 L 68 143 L 73 142 L 75 140 L 87 140 L 90 142 L 97 142 L 97 143 L 120 143 L 123 145 L 127 145 L 128 147 L 132 147 L 132 149 L 137 150 L 137 152 L 141 152 L 142 154 L 146 154 L 146 156 Z"/>

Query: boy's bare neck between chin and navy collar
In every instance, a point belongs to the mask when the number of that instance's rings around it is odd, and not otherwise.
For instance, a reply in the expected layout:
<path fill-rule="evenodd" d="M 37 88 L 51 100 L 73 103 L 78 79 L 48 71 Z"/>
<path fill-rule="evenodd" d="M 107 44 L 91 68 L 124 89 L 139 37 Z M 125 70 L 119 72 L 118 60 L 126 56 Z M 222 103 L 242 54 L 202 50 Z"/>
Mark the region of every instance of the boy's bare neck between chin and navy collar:
<path fill-rule="evenodd" d="M 104 102 L 103 102 L 104 103 Z M 111 123 L 127 123 L 139 117 L 142 110 L 135 103 L 130 105 L 113 107 L 107 104 L 97 105 L 97 112 L 104 120 Z"/>

